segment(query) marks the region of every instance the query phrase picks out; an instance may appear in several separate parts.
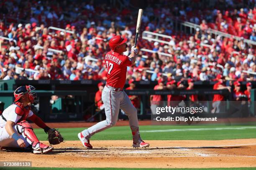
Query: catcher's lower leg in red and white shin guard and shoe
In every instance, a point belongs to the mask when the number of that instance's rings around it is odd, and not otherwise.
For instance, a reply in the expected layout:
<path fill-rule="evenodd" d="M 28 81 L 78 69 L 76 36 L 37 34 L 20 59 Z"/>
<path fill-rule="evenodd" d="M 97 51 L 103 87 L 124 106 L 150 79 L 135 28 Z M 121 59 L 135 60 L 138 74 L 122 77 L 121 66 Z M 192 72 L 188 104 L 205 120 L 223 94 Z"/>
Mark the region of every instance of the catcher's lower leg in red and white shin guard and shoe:
<path fill-rule="evenodd" d="M 25 120 L 16 124 L 17 131 L 32 145 L 34 154 L 49 153 L 53 150 L 53 147 L 44 145 L 39 142 L 36 134 L 33 131 L 32 126 Z"/>

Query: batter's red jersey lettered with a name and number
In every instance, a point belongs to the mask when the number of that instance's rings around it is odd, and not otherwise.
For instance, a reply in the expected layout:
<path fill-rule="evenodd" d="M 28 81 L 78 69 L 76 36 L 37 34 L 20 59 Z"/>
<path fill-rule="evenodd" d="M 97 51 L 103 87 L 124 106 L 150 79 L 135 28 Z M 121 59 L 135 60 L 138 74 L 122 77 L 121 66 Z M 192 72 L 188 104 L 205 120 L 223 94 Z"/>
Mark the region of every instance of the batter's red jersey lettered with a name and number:
<path fill-rule="evenodd" d="M 105 66 L 108 72 L 107 84 L 115 88 L 123 88 L 126 80 L 127 67 L 132 65 L 126 55 L 110 51 L 105 55 Z"/>

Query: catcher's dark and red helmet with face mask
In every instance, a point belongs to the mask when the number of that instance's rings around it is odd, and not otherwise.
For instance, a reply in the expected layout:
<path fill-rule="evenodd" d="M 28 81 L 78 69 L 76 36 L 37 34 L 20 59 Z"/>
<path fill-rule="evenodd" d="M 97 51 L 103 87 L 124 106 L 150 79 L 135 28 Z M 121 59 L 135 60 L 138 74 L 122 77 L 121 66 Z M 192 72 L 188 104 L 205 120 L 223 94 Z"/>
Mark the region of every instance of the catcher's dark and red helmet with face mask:
<path fill-rule="evenodd" d="M 18 87 L 13 93 L 15 97 L 14 102 L 18 101 L 21 96 L 28 93 L 29 101 L 31 102 L 31 104 L 38 103 L 36 92 L 32 92 L 33 90 L 36 90 L 36 88 L 33 87 L 32 85 L 25 85 L 25 86 Z"/>

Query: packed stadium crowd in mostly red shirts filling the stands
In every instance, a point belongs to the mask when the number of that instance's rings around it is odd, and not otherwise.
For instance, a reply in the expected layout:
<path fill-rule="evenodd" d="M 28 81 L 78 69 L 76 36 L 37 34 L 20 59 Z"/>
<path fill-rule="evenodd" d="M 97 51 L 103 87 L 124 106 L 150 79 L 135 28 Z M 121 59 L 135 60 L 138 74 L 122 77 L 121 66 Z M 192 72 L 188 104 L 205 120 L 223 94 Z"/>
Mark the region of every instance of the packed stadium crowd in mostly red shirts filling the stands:
<path fill-rule="evenodd" d="M 235 3 L 236 0 L 226 1 L 230 6 L 232 3 L 239 5 Z M 136 65 L 128 68 L 128 80 L 164 79 L 170 82 L 192 78 L 204 81 L 216 80 L 217 75 L 223 75 L 226 80 L 256 80 L 253 75 L 243 72 L 256 72 L 255 46 L 244 42 L 244 39 L 256 39 L 256 7 L 218 10 L 210 4 L 205 10 L 196 10 L 193 7 L 197 0 L 193 0 L 191 6 L 186 4 L 190 1 L 174 1 L 176 3 L 172 8 L 166 4 L 164 7 L 156 5 L 153 8 L 154 2 L 148 2 L 141 30 L 171 35 L 172 40 L 164 44 L 140 37 L 138 48 L 155 52 L 139 52 Z M 198 7 L 203 9 L 204 2 L 198 3 Z M 134 45 L 137 13 L 132 13 L 128 8 L 117 10 L 104 3 L 95 5 L 91 1 L 79 4 L 67 0 L 63 3 L 53 1 L 51 5 L 49 1 L 3 1 L 0 6 L 1 18 L 10 15 L 29 21 L 26 24 L 15 23 L 10 18 L 8 22 L 12 23 L 9 24 L 0 21 L 0 36 L 10 38 L 0 39 L 0 80 L 105 80 L 107 72 L 103 59 L 110 50 L 108 40 L 114 35 L 127 37 L 127 55 Z M 205 15 L 207 13 L 210 15 Z M 174 30 L 171 18 L 201 24 L 195 34 L 185 35 Z M 49 26 L 74 33 L 49 30 Z M 208 28 L 238 35 L 241 39 L 213 37 Z M 159 52 L 172 56 L 161 55 Z"/>

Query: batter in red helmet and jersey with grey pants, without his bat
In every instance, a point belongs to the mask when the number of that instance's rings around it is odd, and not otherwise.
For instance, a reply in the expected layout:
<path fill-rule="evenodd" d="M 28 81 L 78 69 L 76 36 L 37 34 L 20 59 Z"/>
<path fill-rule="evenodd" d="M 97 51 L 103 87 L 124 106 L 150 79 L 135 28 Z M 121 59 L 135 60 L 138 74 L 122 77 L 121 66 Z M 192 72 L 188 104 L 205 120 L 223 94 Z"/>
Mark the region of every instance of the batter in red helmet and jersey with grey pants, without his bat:
<path fill-rule="evenodd" d="M 105 107 L 106 120 L 78 133 L 84 147 L 92 149 L 90 138 L 95 133 L 110 128 L 118 120 L 119 109 L 122 109 L 129 118 L 129 124 L 133 135 L 133 147 L 145 148 L 149 143 L 143 142 L 138 128 L 137 110 L 131 103 L 128 95 L 123 91 L 126 80 L 127 67 L 135 63 L 138 50 L 132 47 L 131 55 L 123 55 L 126 51 L 127 38 L 116 35 L 109 41 L 111 51 L 105 55 L 105 66 L 108 72 L 107 83 L 102 91 L 102 101 Z"/>

